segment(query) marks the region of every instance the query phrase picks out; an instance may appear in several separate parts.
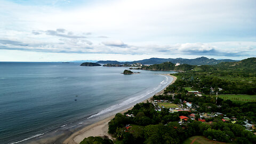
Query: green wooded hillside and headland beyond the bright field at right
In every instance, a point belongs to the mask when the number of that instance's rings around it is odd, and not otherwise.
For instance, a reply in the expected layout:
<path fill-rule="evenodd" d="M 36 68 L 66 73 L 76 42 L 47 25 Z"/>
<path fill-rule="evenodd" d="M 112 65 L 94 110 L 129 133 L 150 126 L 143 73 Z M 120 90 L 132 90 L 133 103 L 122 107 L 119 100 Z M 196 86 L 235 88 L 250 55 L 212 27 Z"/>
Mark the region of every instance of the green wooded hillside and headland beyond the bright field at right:
<path fill-rule="evenodd" d="M 174 74 L 179 79 L 175 82 L 176 86 L 170 87 L 170 92 L 189 86 L 204 94 L 210 94 L 211 88 L 219 94 L 256 94 L 256 58 L 239 62 L 223 62 L 215 66 L 180 65 L 175 67 L 173 63 L 166 62 L 145 67 L 142 68 L 186 71 L 185 73 Z"/>

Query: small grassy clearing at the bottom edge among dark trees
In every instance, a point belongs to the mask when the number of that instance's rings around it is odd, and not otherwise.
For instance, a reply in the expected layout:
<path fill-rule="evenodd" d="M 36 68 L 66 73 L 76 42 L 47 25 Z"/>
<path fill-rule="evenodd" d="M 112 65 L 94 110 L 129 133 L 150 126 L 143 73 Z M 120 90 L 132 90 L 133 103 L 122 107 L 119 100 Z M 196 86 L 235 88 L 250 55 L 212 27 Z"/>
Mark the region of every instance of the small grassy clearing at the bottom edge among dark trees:
<path fill-rule="evenodd" d="M 212 144 L 212 143 L 225 143 L 225 142 L 219 142 L 219 141 L 214 141 L 214 140 L 209 140 L 206 139 L 203 136 L 194 136 L 194 137 L 190 137 L 188 139 L 186 139 L 183 144 Z"/>

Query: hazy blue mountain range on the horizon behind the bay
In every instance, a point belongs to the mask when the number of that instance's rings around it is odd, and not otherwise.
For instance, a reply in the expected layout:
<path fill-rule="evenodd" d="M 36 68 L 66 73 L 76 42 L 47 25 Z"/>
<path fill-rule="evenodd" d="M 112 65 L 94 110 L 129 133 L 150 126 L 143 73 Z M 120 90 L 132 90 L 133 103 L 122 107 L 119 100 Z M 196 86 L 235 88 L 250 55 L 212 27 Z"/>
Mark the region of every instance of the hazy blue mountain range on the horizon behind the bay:
<path fill-rule="evenodd" d="M 230 60 L 230 59 L 222 59 L 222 60 L 216 60 L 216 59 L 208 59 L 206 57 L 200 57 L 196 59 L 162 59 L 162 58 L 150 58 L 145 60 L 138 60 L 138 61 L 127 61 L 127 62 L 119 62 L 119 61 L 98 61 L 96 63 L 108 63 L 111 62 L 111 64 L 132 64 L 132 63 L 141 63 L 143 65 L 154 65 L 154 64 L 160 64 L 163 62 L 172 62 L 172 63 L 180 63 L 180 64 L 188 64 L 188 65 L 217 65 L 221 62 L 235 62 L 236 60 Z"/>

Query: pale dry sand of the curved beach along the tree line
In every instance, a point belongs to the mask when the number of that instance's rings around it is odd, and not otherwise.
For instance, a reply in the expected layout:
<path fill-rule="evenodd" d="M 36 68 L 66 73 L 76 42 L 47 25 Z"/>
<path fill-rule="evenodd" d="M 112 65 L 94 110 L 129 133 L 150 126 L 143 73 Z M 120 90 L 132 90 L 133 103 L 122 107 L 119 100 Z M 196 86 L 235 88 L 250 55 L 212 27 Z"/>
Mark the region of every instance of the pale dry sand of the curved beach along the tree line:
<path fill-rule="evenodd" d="M 172 76 L 172 75 L 168 75 L 168 74 L 163 74 L 163 75 L 171 76 L 173 78 L 173 81 L 169 85 L 173 84 L 177 79 L 177 77 Z M 168 87 L 169 85 L 167 85 L 166 87 Z M 163 94 L 166 87 L 162 91 L 156 93 L 155 95 Z M 150 99 L 152 97 L 150 97 L 142 102 L 147 102 L 147 100 L 150 102 Z M 130 109 L 132 109 L 132 107 L 123 110 L 121 113 L 123 114 Z M 113 119 L 114 117 L 115 117 L 115 115 L 112 115 L 112 116 L 109 116 L 109 117 L 103 119 L 102 121 L 99 121 L 99 122 L 96 122 L 94 124 L 84 127 L 83 129 L 71 134 L 69 138 L 67 138 L 65 141 L 63 141 L 63 143 L 76 144 L 76 143 L 80 143 L 84 138 L 91 137 L 91 136 L 93 136 L 93 137 L 107 136 L 108 138 L 113 139 L 111 137 L 111 135 L 108 134 L 108 122 L 110 122 L 110 120 Z"/>

